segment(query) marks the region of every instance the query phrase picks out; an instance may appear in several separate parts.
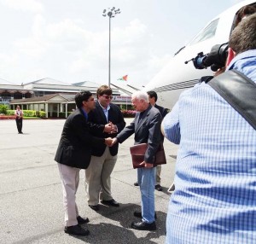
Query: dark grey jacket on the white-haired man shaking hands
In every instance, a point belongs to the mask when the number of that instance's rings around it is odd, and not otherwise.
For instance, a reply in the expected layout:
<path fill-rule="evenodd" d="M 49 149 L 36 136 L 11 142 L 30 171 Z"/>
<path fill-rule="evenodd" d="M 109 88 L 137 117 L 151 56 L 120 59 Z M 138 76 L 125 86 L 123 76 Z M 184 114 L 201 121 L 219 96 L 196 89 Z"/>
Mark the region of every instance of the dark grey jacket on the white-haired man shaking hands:
<path fill-rule="evenodd" d="M 122 143 L 135 133 L 135 144 L 148 143 L 144 161 L 153 164 L 154 155 L 160 145 L 160 123 L 162 117 L 160 111 L 151 105 L 145 110 L 141 119 L 139 119 L 139 116 L 140 113 L 136 113 L 135 119 L 131 122 L 131 125 L 126 126 L 125 129 L 119 133 L 117 139 Z"/>

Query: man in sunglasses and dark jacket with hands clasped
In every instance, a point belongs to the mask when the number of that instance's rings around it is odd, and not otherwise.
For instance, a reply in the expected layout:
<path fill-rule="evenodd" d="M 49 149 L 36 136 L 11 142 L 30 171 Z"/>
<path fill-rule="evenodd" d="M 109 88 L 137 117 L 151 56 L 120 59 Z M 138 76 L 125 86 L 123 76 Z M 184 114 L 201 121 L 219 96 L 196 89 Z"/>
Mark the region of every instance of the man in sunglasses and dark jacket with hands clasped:
<path fill-rule="evenodd" d="M 108 85 L 100 86 L 97 90 L 96 108 L 89 113 L 89 121 L 96 127 L 96 130 L 92 131 L 95 137 L 116 137 L 125 128 L 123 114 L 118 106 L 110 103 L 111 99 L 112 89 Z M 99 210 L 99 200 L 104 205 L 119 206 L 119 203 L 113 200 L 110 181 L 118 148 L 118 144 L 112 148 L 103 144 L 92 145 L 90 166 L 85 171 L 85 190 L 88 205 L 95 211 Z"/>

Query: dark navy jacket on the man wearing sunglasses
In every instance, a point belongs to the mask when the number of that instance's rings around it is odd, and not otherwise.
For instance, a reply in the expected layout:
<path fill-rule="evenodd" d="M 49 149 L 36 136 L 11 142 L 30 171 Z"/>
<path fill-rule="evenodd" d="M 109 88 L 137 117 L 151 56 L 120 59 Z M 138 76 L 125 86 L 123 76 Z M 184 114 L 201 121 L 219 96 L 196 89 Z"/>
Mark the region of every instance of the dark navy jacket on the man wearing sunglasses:
<path fill-rule="evenodd" d="M 92 129 L 91 133 L 95 137 L 107 138 L 107 137 L 116 137 L 117 133 L 108 134 L 103 132 L 104 127 L 108 124 L 109 121 L 113 123 L 113 125 L 117 125 L 118 133 L 125 128 L 125 119 L 123 114 L 120 111 L 120 108 L 113 103 L 109 104 L 110 109 L 108 110 L 108 121 L 102 110 L 99 102 L 96 102 L 96 108 L 88 114 L 88 120 L 90 121 L 90 128 Z M 92 155 L 101 157 L 106 149 L 106 145 L 92 145 Z M 119 144 L 116 143 L 113 147 L 109 148 L 111 155 L 116 155 L 118 153 Z"/>

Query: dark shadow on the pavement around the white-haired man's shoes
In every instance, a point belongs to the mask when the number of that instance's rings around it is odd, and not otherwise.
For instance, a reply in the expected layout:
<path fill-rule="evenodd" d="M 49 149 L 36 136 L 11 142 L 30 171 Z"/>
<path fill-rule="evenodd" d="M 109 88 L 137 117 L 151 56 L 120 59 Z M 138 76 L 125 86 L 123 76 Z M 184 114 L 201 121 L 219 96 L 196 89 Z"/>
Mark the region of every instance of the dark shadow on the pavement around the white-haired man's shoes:
<path fill-rule="evenodd" d="M 87 243 L 160 243 L 157 239 L 166 235 L 166 213 L 156 212 L 157 229 L 154 231 L 131 229 L 131 222 L 139 221 L 133 216 L 133 212 L 139 210 L 135 204 L 121 204 L 119 207 L 101 205 L 98 212 L 105 218 L 109 218 L 119 224 L 87 224 L 90 235 L 85 237 L 74 236 Z M 119 226 L 121 225 L 121 226 Z M 85 225 L 86 226 L 86 225 Z M 145 233 L 147 233 L 145 235 Z M 141 236 L 143 235 L 143 236 Z M 140 237 L 138 237 L 140 236 Z M 156 239 L 156 240 L 152 240 Z"/>

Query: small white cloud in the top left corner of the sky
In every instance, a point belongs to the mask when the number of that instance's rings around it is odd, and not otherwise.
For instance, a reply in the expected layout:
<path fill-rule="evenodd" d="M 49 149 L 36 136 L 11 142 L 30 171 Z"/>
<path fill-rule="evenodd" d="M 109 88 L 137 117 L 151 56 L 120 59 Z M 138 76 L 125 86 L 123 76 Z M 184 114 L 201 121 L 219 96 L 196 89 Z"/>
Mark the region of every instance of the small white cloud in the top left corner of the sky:
<path fill-rule="evenodd" d="M 30 11 L 34 13 L 43 12 L 44 6 L 36 0 L 0 0 L 0 3 L 10 9 Z"/>

